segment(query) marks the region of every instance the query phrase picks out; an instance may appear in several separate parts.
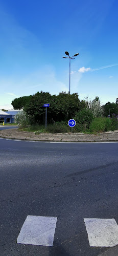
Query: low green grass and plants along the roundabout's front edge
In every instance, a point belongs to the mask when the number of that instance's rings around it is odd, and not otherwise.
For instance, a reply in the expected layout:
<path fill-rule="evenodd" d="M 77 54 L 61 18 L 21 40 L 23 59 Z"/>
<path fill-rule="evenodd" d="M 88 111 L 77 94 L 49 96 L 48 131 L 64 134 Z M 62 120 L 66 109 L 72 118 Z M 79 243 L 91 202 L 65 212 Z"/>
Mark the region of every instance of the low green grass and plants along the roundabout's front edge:
<path fill-rule="evenodd" d="M 55 122 L 54 124 L 35 124 L 29 125 L 28 127 L 22 127 L 20 131 L 34 132 L 35 134 L 40 133 L 85 133 L 85 134 L 97 134 L 107 131 L 114 131 L 118 129 L 118 121 L 115 118 L 108 117 L 96 117 L 91 121 L 90 127 L 88 128 L 86 123 L 78 123 L 75 127 L 69 127 L 66 122 Z"/>

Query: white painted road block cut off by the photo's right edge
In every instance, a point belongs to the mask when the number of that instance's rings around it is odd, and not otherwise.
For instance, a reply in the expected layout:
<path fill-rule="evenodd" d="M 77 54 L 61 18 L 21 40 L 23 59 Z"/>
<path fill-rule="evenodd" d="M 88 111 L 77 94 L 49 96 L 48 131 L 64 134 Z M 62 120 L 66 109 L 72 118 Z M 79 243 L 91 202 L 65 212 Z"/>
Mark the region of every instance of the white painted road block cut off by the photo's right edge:
<path fill-rule="evenodd" d="M 118 244 L 118 225 L 114 219 L 84 219 L 90 246 L 113 247 Z"/>

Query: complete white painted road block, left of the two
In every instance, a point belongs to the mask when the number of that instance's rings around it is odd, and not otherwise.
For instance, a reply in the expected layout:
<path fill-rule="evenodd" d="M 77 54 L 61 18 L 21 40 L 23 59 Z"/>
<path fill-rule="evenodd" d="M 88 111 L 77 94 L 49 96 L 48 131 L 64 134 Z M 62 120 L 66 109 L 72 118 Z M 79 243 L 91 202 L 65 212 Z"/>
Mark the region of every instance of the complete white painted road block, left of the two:
<path fill-rule="evenodd" d="M 27 216 L 17 243 L 53 246 L 56 222 L 56 217 Z"/>

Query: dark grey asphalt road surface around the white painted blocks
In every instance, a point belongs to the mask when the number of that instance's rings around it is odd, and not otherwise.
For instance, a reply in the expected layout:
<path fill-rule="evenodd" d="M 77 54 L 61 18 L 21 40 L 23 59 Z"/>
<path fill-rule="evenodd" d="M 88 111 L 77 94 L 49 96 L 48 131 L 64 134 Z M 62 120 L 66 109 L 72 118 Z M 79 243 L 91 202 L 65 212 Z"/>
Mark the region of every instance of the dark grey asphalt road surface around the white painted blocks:
<path fill-rule="evenodd" d="M 118 223 L 117 152 L 118 143 L 0 139 L 0 254 L 98 256 L 109 251 L 89 246 L 84 218 Z M 57 217 L 52 247 L 15 242 L 28 215 Z"/>

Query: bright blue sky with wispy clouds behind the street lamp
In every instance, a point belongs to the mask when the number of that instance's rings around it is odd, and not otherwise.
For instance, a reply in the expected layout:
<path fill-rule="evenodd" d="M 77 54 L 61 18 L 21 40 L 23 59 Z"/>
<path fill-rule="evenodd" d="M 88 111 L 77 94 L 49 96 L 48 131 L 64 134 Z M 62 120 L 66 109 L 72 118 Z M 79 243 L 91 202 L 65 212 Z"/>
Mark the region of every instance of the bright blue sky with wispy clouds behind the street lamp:
<path fill-rule="evenodd" d="M 0 109 L 14 98 L 69 90 L 118 97 L 117 0 L 0 0 Z M 47 103 L 47 102 L 45 102 Z"/>

